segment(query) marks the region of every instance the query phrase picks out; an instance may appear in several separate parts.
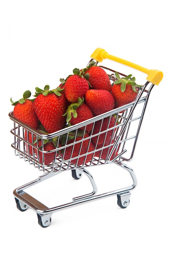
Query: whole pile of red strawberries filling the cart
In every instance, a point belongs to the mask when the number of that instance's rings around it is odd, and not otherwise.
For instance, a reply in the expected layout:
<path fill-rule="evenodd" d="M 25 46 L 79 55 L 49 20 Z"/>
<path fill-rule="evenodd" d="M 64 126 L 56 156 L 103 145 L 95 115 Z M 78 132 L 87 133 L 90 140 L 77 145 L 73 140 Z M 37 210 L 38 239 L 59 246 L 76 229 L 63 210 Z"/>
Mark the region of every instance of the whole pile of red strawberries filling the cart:
<path fill-rule="evenodd" d="M 43 134 L 57 132 L 67 126 L 78 124 L 134 101 L 140 86 L 131 76 L 120 78 L 119 74 L 115 72 L 115 81 L 111 84 L 106 71 L 92 61 L 86 68 L 82 70 L 75 68 L 73 74 L 67 76 L 66 79 L 60 79 L 60 85 L 55 89 L 51 90 L 49 85 L 46 85 L 44 89 L 36 87 L 34 99 L 29 99 L 31 97 L 29 90 L 24 92 L 23 98 L 19 101 L 13 102 L 11 99 L 14 106 L 13 116 Z M 69 134 L 67 145 L 71 144 L 71 146 L 67 146 L 64 153 L 57 152 L 57 154 L 63 154 L 64 160 L 72 159 L 73 164 L 81 165 L 89 162 L 93 153 L 79 157 L 79 159 L 77 156 L 86 154 L 87 150 L 91 152 L 96 148 L 110 145 L 113 137 L 113 130 L 110 130 L 107 135 L 102 133 L 89 140 L 92 127 L 93 135 L 95 135 L 99 131 L 116 126 L 116 124 L 113 116 L 105 118 L 103 122 L 101 120 L 95 122 L 94 127 L 93 124 L 80 127 L 76 138 L 74 132 Z M 84 129 L 86 131 L 84 141 L 75 143 L 73 150 L 72 143 L 82 139 Z M 25 130 L 24 139 L 41 149 L 42 139 L 37 141 L 36 136 L 34 137 L 33 133 L 28 130 Z M 44 154 L 44 160 L 41 150 L 35 150 L 26 144 L 26 151 L 29 155 L 37 155 L 40 163 L 49 165 L 57 157 L 56 150 L 54 150 L 56 146 L 63 146 L 64 143 L 66 143 L 64 139 L 58 142 L 57 138 L 44 141 L 43 150 L 48 152 L 53 150 L 51 153 Z M 106 150 L 107 152 L 97 151 L 95 156 L 106 158 L 108 148 Z"/>

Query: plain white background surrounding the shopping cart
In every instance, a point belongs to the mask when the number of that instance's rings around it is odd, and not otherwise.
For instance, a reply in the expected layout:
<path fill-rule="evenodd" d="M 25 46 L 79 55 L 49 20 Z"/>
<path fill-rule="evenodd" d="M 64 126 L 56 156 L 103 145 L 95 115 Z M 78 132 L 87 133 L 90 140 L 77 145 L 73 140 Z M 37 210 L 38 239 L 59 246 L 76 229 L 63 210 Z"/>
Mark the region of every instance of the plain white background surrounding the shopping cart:
<path fill-rule="evenodd" d="M 169 255 L 169 8 L 166 0 L 38 1 L 6 0 L 0 3 L 1 86 L 1 209 L 2 255 Z M 135 156 L 129 165 L 135 171 L 137 188 L 126 209 L 109 197 L 55 212 L 51 225 L 38 225 L 36 213 L 16 208 L 13 190 L 36 179 L 40 173 L 14 155 L 13 126 L 8 113 L 25 90 L 49 84 L 56 88 L 75 67 L 82 68 L 97 48 L 149 69 L 164 77 L 150 95 Z M 102 63 L 103 64 L 103 63 Z M 110 63 L 117 69 L 119 65 Z M 119 67 L 123 71 L 126 68 Z M 120 72 L 122 70 L 119 70 Z M 126 72 L 126 71 L 125 71 Z M 142 78 L 135 70 L 126 74 Z M 138 76 L 139 75 L 139 76 Z M 97 168 L 97 167 L 96 167 Z M 115 165 L 96 170 L 94 176 L 107 186 Z M 64 174 L 65 175 L 65 174 Z M 42 182 L 42 201 L 54 205 L 68 195 L 70 187 L 86 187 L 83 178 L 56 175 Z M 114 188 L 121 188 L 113 180 Z M 61 179 L 60 182 L 58 179 Z M 119 180 L 119 179 L 118 179 Z M 126 183 L 126 173 L 121 182 Z M 121 185 L 120 185 L 121 186 Z M 60 192 L 55 192 L 60 188 Z M 68 193 L 66 189 L 68 188 Z M 48 193 L 50 192 L 50 195 Z M 89 191 L 91 192 L 91 191 Z M 79 191 L 74 196 L 78 196 Z M 71 195 L 72 196 L 72 195 Z"/>

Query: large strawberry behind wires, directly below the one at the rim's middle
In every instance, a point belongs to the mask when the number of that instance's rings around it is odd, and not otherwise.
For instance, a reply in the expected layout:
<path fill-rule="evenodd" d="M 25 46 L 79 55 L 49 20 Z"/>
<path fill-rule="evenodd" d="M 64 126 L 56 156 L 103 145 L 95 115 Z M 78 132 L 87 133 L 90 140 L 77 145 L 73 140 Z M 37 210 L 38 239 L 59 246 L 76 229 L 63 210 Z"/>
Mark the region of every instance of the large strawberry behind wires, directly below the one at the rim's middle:
<path fill-rule="evenodd" d="M 94 150 L 94 145 L 92 141 L 90 141 L 90 139 L 85 139 L 88 137 L 89 135 L 88 133 L 86 133 L 84 135 L 83 141 L 80 141 L 82 140 L 82 137 L 76 137 L 76 139 L 69 140 L 68 145 L 77 141 L 80 142 L 74 143 L 74 145 L 66 147 L 65 152 L 63 153 L 64 159 L 71 159 L 72 164 L 78 165 L 87 164 L 88 162 L 90 162 L 93 158 L 93 153 L 90 152 Z M 72 160 L 73 157 L 78 157 L 79 155 L 86 154 L 87 152 L 89 152 L 90 154 L 88 154 L 87 156 L 79 157 L 78 161 L 77 158 Z"/>

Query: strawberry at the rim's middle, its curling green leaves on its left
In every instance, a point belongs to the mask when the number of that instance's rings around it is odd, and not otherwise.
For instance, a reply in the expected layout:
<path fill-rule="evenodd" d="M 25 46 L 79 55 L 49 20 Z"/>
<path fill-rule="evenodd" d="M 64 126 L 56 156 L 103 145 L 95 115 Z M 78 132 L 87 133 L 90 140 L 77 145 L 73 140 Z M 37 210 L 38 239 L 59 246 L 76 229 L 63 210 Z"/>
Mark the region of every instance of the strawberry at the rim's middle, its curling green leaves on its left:
<path fill-rule="evenodd" d="M 80 122 L 86 121 L 93 117 L 93 113 L 91 109 L 84 103 L 84 98 L 79 98 L 77 103 L 71 103 L 66 113 L 67 116 L 66 121 L 70 122 L 71 125 L 79 124 Z M 88 124 L 85 128 L 87 132 L 90 132 L 93 127 L 92 124 Z M 84 130 L 84 126 L 79 128 L 80 130 Z"/>

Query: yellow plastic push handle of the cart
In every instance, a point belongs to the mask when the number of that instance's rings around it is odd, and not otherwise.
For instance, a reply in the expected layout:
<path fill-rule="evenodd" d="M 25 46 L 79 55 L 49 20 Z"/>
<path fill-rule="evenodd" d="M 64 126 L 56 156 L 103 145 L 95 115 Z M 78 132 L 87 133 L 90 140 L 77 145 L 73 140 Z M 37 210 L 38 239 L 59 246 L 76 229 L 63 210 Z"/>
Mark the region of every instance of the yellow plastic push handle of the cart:
<path fill-rule="evenodd" d="M 139 71 L 141 71 L 145 74 L 148 74 L 146 79 L 149 82 L 151 82 L 155 85 L 159 85 L 159 83 L 163 79 L 163 72 L 161 72 L 159 70 L 148 70 L 146 67 L 142 67 L 142 66 L 137 65 L 135 63 L 132 63 L 130 61 L 126 61 L 122 58 L 118 58 L 116 56 L 110 55 L 102 48 L 95 49 L 93 54 L 91 54 L 91 58 L 93 58 L 93 59 L 95 59 L 96 61 L 99 61 L 99 62 L 102 62 L 104 59 L 107 58 L 109 60 L 116 61 L 116 62 L 119 62 L 121 64 L 124 64 L 128 67 L 132 67 L 132 68 L 134 68 L 136 70 L 139 70 Z"/>

